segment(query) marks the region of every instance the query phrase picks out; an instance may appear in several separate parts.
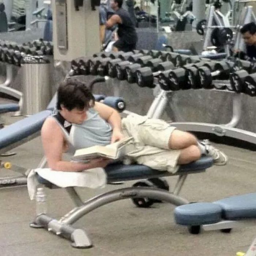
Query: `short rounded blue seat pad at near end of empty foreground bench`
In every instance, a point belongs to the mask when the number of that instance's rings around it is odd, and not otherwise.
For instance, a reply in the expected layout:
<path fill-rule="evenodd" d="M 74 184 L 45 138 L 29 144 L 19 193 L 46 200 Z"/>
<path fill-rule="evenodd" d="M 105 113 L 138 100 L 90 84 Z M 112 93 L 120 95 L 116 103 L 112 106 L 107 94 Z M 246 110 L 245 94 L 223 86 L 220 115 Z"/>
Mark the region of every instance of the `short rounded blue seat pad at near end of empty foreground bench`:
<path fill-rule="evenodd" d="M 197 226 L 221 221 L 222 209 L 213 203 L 192 203 L 178 206 L 174 210 L 177 224 Z"/>

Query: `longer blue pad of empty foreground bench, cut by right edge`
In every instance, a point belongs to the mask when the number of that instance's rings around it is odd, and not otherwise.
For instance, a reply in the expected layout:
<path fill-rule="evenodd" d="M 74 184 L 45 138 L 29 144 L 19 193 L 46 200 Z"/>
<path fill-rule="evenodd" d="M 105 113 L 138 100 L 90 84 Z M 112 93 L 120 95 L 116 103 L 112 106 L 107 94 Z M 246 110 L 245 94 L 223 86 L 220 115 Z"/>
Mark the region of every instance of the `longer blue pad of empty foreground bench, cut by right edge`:
<path fill-rule="evenodd" d="M 256 193 L 227 197 L 214 204 L 222 208 L 223 219 L 256 218 Z"/>

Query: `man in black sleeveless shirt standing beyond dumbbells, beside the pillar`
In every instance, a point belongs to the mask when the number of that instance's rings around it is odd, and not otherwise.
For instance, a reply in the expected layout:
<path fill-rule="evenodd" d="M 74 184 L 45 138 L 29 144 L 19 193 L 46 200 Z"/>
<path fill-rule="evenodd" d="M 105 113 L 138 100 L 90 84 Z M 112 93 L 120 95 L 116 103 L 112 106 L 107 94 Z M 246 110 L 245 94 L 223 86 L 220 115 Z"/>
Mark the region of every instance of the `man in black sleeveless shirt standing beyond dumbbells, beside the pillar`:
<path fill-rule="evenodd" d="M 122 8 L 123 0 L 111 0 L 111 8 L 116 12 L 106 22 L 106 28 L 117 24 L 118 40 L 114 43 L 114 50 L 129 52 L 136 48 L 137 34 L 135 25 L 129 14 Z"/>

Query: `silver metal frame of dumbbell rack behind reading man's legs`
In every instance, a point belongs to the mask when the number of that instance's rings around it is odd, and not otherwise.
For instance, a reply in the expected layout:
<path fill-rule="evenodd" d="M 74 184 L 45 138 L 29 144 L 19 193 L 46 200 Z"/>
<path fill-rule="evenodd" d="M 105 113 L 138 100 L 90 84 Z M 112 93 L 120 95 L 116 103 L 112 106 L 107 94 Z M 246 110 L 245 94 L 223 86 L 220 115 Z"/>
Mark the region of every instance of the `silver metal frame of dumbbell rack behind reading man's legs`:
<path fill-rule="evenodd" d="M 199 89 L 203 90 L 203 89 Z M 241 97 L 242 94 L 235 93 L 228 90 L 225 91 L 233 94 L 233 114 L 229 123 L 227 124 L 210 124 L 210 123 L 196 123 L 196 122 L 172 122 L 172 126 L 177 127 L 182 131 L 190 132 L 205 132 L 212 133 L 217 136 L 227 136 L 234 139 L 243 140 L 245 142 L 256 144 L 256 133 L 245 131 L 243 129 L 235 128 L 241 117 Z M 166 108 L 168 101 L 172 98 L 173 91 L 159 90 L 158 95 L 155 97 L 147 116 L 150 118 L 160 118 L 163 111 L 170 115 L 169 108 Z"/>

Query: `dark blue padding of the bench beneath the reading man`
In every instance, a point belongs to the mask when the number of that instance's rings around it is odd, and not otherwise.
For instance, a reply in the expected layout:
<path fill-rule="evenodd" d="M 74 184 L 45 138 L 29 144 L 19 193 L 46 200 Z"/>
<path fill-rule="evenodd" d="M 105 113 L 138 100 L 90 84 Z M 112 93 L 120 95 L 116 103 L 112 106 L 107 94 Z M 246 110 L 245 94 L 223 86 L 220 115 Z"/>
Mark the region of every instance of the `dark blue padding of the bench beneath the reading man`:
<path fill-rule="evenodd" d="M 189 172 L 198 172 L 199 170 L 204 170 L 211 166 L 212 158 L 202 157 L 201 159 L 193 163 L 181 165 L 177 173 L 185 174 Z M 172 175 L 172 173 L 154 170 L 145 165 L 124 165 L 122 163 L 113 163 L 111 165 L 108 165 L 106 166 L 105 171 L 108 174 L 108 182 L 138 180 L 147 179 L 150 177 L 163 177 Z M 38 176 L 38 182 L 46 185 L 46 187 L 49 188 L 53 186 L 52 183 L 50 183 L 49 181 L 45 180 L 40 176 Z"/>

